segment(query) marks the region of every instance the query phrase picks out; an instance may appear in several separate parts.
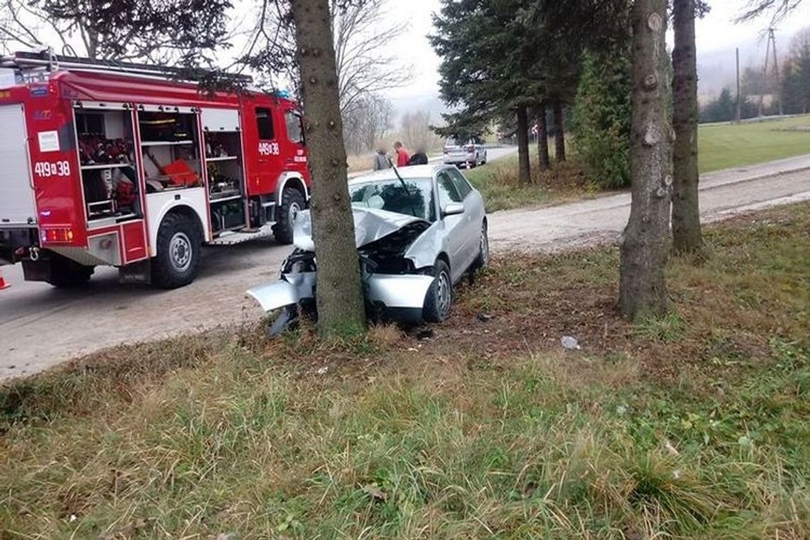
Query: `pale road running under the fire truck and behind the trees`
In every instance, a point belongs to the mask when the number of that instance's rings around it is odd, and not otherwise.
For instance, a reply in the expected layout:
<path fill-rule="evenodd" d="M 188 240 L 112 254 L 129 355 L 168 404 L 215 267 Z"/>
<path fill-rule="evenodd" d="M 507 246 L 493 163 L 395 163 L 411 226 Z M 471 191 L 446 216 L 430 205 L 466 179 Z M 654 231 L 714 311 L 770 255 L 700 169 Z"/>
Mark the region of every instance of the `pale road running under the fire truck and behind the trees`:
<path fill-rule="evenodd" d="M 498 154 L 491 151 L 490 159 Z M 715 172 L 701 180 L 701 210 L 707 220 L 806 199 L 810 155 Z M 629 202 L 629 194 L 620 193 L 497 212 L 489 218 L 492 249 L 549 251 L 616 240 L 627 222 Z M 271 240 L 208 248 L 198 279 L 175 291 L 121 285 L 117 271 L 106 268 L 96 271 L 87 290 L 61 291 L 23 282 L 19 266 L 5 266 L 11 288 L 0 291 L 0 380 L 122 342 L 254 321 L 261 313 L 245 298 L 245 290 L 275 279 L 288 252 Z"/>

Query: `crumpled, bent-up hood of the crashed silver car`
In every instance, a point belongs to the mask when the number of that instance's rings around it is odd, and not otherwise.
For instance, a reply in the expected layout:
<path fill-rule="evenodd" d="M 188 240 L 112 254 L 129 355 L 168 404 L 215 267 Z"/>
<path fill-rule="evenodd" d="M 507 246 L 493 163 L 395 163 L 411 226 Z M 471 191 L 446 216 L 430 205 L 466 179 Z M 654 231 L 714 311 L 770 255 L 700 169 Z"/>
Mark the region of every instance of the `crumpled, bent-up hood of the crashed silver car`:
<path fill-rule="evenodd" d="M 376 242 L 411 223 L 430 224 L 427 220 L 412 215 L 357 206 L 352 207 L 352 215 L 355 222 L 355 245 L 358 248 Z M 304 210 L 296 216 L 296 224 L 292 230 L 292 244 L 305 251 L 315 250 L 312 240 L 312 216 L 309 210 Z"/>

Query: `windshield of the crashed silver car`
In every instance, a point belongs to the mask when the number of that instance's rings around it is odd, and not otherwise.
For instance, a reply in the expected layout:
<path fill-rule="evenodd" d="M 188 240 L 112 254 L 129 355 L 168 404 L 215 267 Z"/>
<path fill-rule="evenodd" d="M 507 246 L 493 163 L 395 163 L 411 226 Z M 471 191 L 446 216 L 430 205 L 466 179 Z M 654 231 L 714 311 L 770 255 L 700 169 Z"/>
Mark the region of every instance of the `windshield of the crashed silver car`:
<path fill-rule="evenodd" d="M 349 185 L 352 206 L 387 210 L 434 221 L 436 212 L 430 178 L 408 178 L 407 192 L 399 179 Z"/>

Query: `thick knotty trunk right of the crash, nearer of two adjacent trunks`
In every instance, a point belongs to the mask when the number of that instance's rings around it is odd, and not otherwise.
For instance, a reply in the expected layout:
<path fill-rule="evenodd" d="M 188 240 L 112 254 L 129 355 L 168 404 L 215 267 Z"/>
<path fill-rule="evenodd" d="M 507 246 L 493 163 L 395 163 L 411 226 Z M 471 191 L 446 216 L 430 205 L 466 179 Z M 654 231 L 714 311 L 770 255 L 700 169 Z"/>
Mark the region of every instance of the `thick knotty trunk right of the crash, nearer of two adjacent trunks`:
<path fill-rule="evenodd" d="M 667 0 L 633 3 L 633 95 L 630 219 L 621 239 L 622 313 L 637 319 L 667 310 L 667 264 L 672 185 L 671 127 L 665 70 Z"/>

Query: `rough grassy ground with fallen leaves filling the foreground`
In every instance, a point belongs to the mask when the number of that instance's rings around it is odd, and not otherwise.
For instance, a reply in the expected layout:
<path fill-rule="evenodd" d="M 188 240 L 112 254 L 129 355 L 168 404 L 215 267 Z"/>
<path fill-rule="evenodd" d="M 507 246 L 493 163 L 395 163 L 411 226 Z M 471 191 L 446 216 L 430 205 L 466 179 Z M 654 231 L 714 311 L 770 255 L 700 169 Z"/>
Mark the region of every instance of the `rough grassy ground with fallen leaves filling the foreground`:
<path fill-rule="evenodd" d="M 4 387 L 0 538 L 808 538 L 808 231 L 710 227 L 638 325 L 616 249 L 500 257 L 432 338 L 245 329 Z"/>

